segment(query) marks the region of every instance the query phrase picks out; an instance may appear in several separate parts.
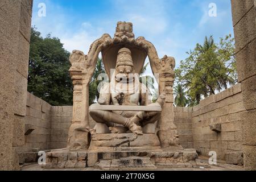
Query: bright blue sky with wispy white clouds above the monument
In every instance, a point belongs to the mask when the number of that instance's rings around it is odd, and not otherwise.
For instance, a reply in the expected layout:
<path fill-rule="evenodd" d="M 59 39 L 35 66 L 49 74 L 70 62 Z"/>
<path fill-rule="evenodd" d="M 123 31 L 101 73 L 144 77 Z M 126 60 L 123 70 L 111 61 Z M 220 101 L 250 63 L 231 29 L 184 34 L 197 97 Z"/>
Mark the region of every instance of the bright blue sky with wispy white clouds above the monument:
<path fill-rule="evenodd" d="M 38 16 L 39 3 L 46 4 L 46 16 Z M 208 15 L 210 3 L 216 17 Z M 102 34 L 113 37 L 120 20 L 132 22 L 135 36 L 152 42 L 159 57 L 175 57 L 177 67 L 205 36 L 233 35 L 230 0 L 34 0 L 32 26 L 60 38 L 68 51 L 87 53 Z"/>

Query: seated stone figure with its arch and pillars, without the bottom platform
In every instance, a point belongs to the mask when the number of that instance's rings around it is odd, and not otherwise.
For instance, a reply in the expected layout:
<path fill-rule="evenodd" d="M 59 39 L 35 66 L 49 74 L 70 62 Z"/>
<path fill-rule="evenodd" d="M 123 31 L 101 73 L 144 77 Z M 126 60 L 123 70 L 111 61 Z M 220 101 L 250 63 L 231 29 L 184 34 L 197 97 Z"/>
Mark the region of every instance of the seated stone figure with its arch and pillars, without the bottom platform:
<path fill-rule="evenodd" d="M 89 107 L 89 82 L 100 52 L 110 82 L 102 86 L 98 104 Z M 158 75 L 155 77 L 160 96 L 155 103 L 151 103 L 149 90 L 139 82 L 138 73 L 147 56 L 152 72 Z M 92 43 L 87 55 L 75 50 L 70 61 L 74 92 L 68 148 L 112 146 L 113 141 L 118 142 L 115 137 L 106 144 L 97 140 L 102 137 L 97 134 L 129 135 L 129 132 L 131 138 L 133 134 L 143 138 L 134 140 L 134 146 L 143 146 L 142 140 L 146 140 L 150 148 L 179 146 L 172 93 L 175 59 L 169 56 L 160 59 L 151 42 L 142 36 L 135 39 L 132 23 L 118 22 L 113 38 L 109 34 L 102 35 Z M 94 129 L 90 128 L 89 115 L 97 122 Z"/>

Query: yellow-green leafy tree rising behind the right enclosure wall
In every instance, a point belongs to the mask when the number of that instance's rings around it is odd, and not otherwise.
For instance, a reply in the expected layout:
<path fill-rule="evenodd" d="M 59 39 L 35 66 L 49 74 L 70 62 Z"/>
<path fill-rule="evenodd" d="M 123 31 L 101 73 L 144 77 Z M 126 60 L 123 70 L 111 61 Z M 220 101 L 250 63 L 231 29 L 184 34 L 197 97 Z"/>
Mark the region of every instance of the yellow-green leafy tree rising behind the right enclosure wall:
<path fill-rule="evenodd" d="M 201 96 L 208 97 L 216 91 L 237 82 L 234 39 L 231 35 L 214 43 L 213 37 L 205 37 L 203 46 L 196 44 L 189 57 L 176 69 L 176 82 L 188 90 L 191 101 L 198 104 Z"/>

